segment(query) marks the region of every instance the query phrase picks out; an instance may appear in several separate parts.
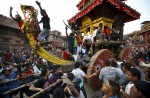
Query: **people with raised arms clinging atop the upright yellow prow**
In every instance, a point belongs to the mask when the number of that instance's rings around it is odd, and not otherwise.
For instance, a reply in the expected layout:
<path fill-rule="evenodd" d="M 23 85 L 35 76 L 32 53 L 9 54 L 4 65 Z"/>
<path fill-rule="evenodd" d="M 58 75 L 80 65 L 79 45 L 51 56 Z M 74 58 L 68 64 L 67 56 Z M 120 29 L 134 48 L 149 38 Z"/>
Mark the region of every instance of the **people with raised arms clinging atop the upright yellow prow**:
<path fill-rule="evenodd" d="M 34 33 L 34 39 L 38 42 L 38 44 L 41 44 L 41 43 L 43 43 L 43 42 L 45 42 L 45 41 L 47 41 L 48 40 L 48 34 L 49 34 L 49 32 L 50 32 L 50 29 L 51 29 L 51 27 L 50 27 L 50 18 L 49 18 L 49 16 L 48 16 L 48 14 L 46 13 L 46 11 L 45 11 L 45 9 L 43 9 L 42 8 L 42 6 L 41 6 L 41 3 L 40 2 L 38 2 L 38 1 L 35 1 L 36 2 L 36 4 L 39 6 L 39 8 L 40 8 L 40 13 L 41 13 L 41 16 L 42 16 L 42 18 L 41 18 L 41 20 L 40 21 L 38 21 L 38 19 L 35 17 L 36 15 L 35 15 L 35 12 L 32 12 L 32 13 L 28 13 L 29 15 L 31 15 L 31 14 L 33 14 L 34 16 L 32 16 L 31 18 L 32 18 L 32 21 L 33 22 L 35 22 L 36 24 L 34 24 L 34 31 L 35 32 L 33 32 Z M 28 9 L 28 10 L 31 10 L 32 9 L 32 6 L 22 6 L 21 5 L 21 9 L 23 8 L 23 7 L 25 7 L 25 9 Z M 25 10 L 24 9 L 24 10 Z M 20 27 L 20 29 L 21 29 L 21 31 L 22 31 L 22 33 L 26 33 L 26 30 L 25 30 L 25 26 L 26 26 L 26 22 L 25 21 L 30 21 L 29 19 L 29 15 L 27 16 L 26 15 L 26 11 L 24 11 L 24 20 L 21 18 L 21 16 L 17 13 L 16 15 L 15 15 L 15 17 L 13 17 L 13 15 L 12 15 L 12 10 L 13 10 L 13 7 L 10 7 L 10 17 L 14 20 L 14 21 L 16 21 L 17 22 L 17 24 L 18 24 L 18 26 Z M 23 10 L 23 9 L 22 9 Z M 27 19 L 27 18 L 29 18 L 29 19 Z M 40 23 L 42 23 L 43 24 L 43 29 L 42 30 L 40 30 L 40 27 L 39 27 L 39 24 Z M 31 27 L 30 27 L 31 28 Z"/>

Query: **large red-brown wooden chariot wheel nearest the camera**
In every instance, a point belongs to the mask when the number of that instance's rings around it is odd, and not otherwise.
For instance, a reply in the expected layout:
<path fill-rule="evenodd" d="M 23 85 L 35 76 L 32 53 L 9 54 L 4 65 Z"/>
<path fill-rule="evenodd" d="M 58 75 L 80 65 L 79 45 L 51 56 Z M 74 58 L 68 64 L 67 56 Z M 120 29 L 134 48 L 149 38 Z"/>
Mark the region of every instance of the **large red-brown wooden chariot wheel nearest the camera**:
<path fill-rule="evenodd" d="M 88 67 L 87 74 L 89 75 L 97 71 L 100 71 L 105 66 L 104 61 L 110 59 L 111 57 L 114 57 L 114 54 L 110 50 L 108 49 L 99 50 L 90 59 L 90 65 Z M 99 90 L 101 85 L 99 82 L 99 74 L 95 77 L 92 77 L 88 81 L 88 83 L 90 84 L 91 88 L 94 91 Z"/>

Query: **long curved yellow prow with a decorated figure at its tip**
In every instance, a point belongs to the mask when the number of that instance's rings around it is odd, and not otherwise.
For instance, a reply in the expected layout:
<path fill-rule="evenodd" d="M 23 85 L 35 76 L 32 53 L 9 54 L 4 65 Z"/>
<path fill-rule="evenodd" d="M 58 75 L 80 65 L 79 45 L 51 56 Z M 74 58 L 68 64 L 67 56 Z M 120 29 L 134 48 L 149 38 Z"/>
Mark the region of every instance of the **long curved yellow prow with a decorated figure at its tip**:
<path fill-rule="evenodd" d="M 24 23 L 21 29 L 26 33 L 27 39 L 32 49 L 34 49 L 37 54 L 39 54 L 47 61 L 58 65 L 72 65 L 74 62 L 62 60 L 47 52 L 42 46 L 38 46 L 38 49 L 36 49 L 35 45 L 37 45 L 37 41 L 34 39 L 34 34 L 37 32 L 36 26 L 38 11 L 35 10 L 33 6 L 28 5 L 21 5 L 21 10 L 24 14 Z"/>

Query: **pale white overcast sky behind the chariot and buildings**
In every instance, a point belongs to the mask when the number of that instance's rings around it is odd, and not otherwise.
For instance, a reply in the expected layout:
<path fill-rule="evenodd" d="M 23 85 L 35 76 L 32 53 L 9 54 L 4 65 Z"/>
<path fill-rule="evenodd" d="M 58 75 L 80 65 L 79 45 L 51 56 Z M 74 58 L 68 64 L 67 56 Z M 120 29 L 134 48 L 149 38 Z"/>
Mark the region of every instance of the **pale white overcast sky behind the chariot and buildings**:
<path fill-rule="evenodd" d="M 62 20 L 68 20 L 74 16 L 77 10 L 77 3 L 80 0 L 38 0 L 41 2 L 42 7 L 47 11 L 51 19 L 51 29 L 58 30 L 65 35 L 65 25 Z M 1 0 L 0 14 L 9 17 L 9 7 L 13 7 L 13 15 L 16 11 L 22 15 L 20 10 L 20 4 L 32 5 L 36 9 L 39 9 L 35 3 L 35 0 Z M 128 22 L 124 26 L 124 33 L 130 33 L 134 30 L 140 30 L 140 23 L 146 20 L 150 20 L 150 0 L 127 0 L 126 4 L 136 9 L 141 13 L 141 17 L 133 22 Z M 40 14 L 38 19 L 40 19 Z"/>

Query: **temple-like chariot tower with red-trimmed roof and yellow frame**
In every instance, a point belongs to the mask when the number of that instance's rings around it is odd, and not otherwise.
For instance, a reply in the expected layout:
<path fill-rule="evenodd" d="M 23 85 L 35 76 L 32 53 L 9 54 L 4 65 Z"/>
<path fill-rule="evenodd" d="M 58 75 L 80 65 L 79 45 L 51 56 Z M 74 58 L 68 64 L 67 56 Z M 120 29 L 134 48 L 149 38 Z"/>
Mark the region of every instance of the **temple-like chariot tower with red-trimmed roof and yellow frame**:
<path fill-rule="evenodd" d="M 69 23 L 74 25 L 75 29 L 79 30 L 82 35 L 86 35 L 88 28 L 90 28 L 90 35 L 92 35 L 94 31 L 93 28 L 98 27 L 100 23 L 102 24 L 103 31 L 108 27 L 111 28 L 115 26 L 119 30 L 120 40 L 120 43 L 116 45 L 121 45 L 124 24 L 140 18 L 140 13 L 126 5 L 125 1 L 126 0 L 81 0 L 77 4 L 79 12 L 69 19 Z M 95 45 L 94 49 L 100 50 L 99 47 L 101 47 L 102 44 L 99 44 L 99 46 Z M 104 45 L 105 43 L 103 46 Z M 109 43 L 109 45 L 114 47 L 111 49 L 113 53 L 117 51 L 119 47 L 114 46 L 113 43 Z M 96 60 L 93 66 L 100 66 L 99 64 L 99 60 Z M 91 78 L 89 83 L 93 90 L 99 90 L 98 77 Z"/>

